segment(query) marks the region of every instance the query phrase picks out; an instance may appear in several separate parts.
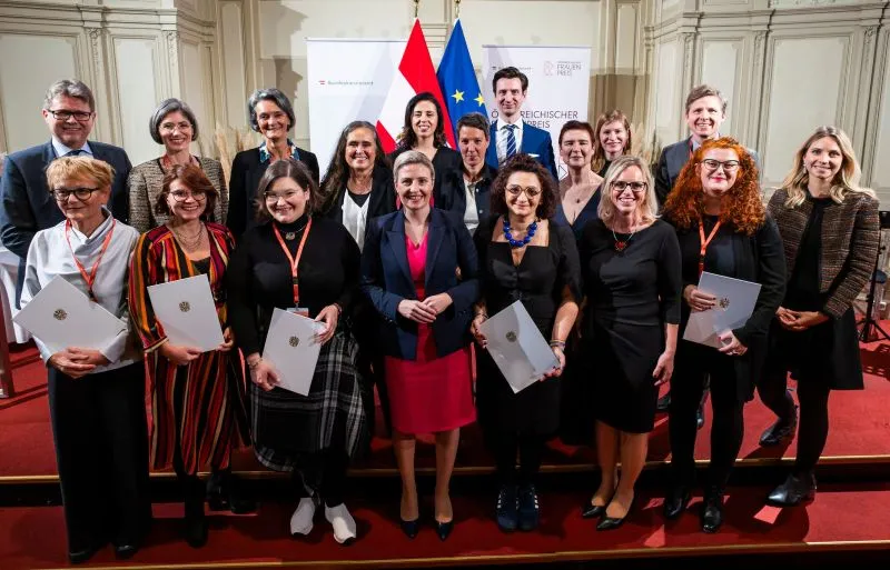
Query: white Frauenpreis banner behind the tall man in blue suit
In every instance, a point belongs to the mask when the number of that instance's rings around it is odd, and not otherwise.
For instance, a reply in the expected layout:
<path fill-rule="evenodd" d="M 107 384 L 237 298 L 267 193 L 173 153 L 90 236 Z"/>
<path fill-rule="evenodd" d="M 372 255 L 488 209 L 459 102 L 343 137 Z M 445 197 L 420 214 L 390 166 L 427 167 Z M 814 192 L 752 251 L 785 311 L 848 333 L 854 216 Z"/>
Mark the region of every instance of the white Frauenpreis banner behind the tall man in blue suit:
<path fill-rule="evenodd" d="M 587 120 L 591 48 L 560 46 L 483 46 L 483 86 L 488 118 L 497 120 L 492 90 L 495 72 L 508 66 L 528 76 L 528 92 L 522 119 L 550 132 L 560 178 L 566 174 L 560 159 L 560 129 L 567 121 Z"/>

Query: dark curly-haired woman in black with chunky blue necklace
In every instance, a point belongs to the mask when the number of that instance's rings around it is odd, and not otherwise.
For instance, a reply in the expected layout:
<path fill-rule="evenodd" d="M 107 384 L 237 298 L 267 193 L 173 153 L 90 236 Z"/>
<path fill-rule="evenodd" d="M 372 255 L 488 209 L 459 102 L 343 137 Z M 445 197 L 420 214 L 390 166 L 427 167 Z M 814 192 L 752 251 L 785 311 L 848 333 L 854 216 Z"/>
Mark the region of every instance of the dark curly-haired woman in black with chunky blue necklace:
<path fill-rule="evenodd" d="M 485 348 L 479 326 L 488 314 L 518 300 L 560 361 L 540 382 L 514 393 L 488 353 L 478 353 L 476 406 L 486 443 L 495 456 L 500 483 L 496 517 L 505 531 L 537 528 L 535 477 L 546 440 L 560 423 L 557 378 L 565 366 L 565 339 L 581 297 L 575 237 L 570 228 L 551 222 L 557 200 L 550 172 L 528 154 L 517 154 L 498 171 L 492 217 L 474 237 L 483 281 L 483 300 L 473 320 L 476 340 Z"/>

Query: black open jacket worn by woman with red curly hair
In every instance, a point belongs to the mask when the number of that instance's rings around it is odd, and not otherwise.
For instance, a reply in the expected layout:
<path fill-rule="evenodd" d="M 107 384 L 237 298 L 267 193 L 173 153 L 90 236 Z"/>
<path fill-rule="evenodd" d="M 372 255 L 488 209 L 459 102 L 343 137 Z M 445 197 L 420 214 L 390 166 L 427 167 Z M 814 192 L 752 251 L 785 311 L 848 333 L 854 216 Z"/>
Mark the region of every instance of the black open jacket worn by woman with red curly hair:
<path fill-rule="evenodd" d="M 665 219 L 669 223 L 670 219 Z M 676 229 L 682 256 L 681 273 L 683 289 L 699 283 L 699 253 L 701 240 L 699 227 L 689 230 Z M 734 358 L 739 394 L 749 400 L 752 388 L 760 377 L 767 357 L 767 340 L 775 310 L 785 297 L 785 257 L 779 228 L 770 214 L 753 236 L 735 232 L 732 234 L 732 254 L 735 261 L 735 278 L 761 284 L 758 301 L 751 318 L 743 327 L 733 330 L 739 342 L 748 347 L 748 353 Z M 680 338 L 689 323 L 689 304 L 681 304 Z M 680 341 L 681 344 L 685 341 Z"/>

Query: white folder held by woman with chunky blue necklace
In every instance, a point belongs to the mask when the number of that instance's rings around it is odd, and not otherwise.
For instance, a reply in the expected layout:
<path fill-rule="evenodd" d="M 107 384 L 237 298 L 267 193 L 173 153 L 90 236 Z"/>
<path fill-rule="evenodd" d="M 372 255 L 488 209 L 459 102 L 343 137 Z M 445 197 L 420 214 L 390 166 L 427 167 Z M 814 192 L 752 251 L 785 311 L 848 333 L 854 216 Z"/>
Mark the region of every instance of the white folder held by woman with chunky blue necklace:
<path fill-rule="evenodd" d="M 520 301 L 483 322 L 479 330 L 514 393 L 537 382 L 560 363 Z"/>

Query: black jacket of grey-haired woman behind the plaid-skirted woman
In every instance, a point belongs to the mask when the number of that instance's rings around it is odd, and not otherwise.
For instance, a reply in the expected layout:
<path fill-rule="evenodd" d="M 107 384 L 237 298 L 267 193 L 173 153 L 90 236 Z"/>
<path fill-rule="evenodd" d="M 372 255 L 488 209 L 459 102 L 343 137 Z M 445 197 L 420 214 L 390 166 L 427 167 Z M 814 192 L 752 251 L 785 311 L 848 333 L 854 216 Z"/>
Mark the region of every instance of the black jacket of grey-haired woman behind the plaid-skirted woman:
<path fill-rule="evenodd" d="M 297 147 L 294 157 L 299 160 L 313 174 L 315 183 L 318 184 L 318 159 L 308 150 Z M 259 148 L 243 150 L 235 154 L 231 161 L 231 177 L 229 180 L 229 211 L 226 217 L 226 226 L 231 230 L 236 238 L 255 227 L 256 212 L 255 199 L 259 179 L 266 173 L 269 162 L 259 161 Z"/>

